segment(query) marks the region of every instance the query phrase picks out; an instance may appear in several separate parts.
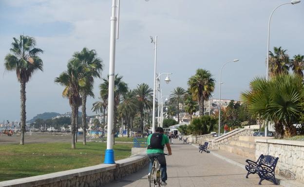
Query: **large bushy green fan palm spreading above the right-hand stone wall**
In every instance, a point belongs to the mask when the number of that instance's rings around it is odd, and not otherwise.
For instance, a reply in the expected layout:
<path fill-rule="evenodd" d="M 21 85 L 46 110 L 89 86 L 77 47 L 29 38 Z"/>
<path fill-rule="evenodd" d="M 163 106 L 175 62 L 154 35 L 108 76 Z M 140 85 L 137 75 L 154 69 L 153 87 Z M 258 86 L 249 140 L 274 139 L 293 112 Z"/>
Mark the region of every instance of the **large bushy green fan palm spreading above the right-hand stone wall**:
<path fill-rule="evenodd" d="M 296 134 L 293 124 L 299 123 L 304 99 L 303 80 L 299 75 L 279 74 L 269 81 L 255 78 L 241 98 L 249 115 L 265 120 L 266 124 L 274 123 L 277 138 Z"/>

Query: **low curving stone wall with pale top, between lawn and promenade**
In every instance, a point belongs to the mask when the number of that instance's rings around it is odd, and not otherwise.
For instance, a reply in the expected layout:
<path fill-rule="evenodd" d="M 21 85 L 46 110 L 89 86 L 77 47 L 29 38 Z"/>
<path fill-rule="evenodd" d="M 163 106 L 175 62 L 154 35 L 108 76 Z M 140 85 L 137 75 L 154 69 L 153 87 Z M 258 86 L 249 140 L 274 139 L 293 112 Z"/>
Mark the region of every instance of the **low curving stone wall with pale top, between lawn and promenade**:
<path fill-rule="evenodd" d="M 101 187 L 143 168 L 149 162 L 145 154 L 76 170 L 0 182 L 0 187 Z"/>

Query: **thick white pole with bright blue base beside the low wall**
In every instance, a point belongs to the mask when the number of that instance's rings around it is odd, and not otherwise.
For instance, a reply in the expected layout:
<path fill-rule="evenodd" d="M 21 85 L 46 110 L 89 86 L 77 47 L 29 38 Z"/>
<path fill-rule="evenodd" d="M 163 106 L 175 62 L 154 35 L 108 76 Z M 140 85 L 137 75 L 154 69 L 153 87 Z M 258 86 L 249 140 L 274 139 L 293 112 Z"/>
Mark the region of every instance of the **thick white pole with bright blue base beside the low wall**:
<path fill-rule="evenodd" d="M 109 66 L 109 94 L 108 94 L 108 128 L 107 150 L 105 164 L 114 164 L 113 151 L 113 113 L 114 113 L 114 77 L 115 77 L 115 44 L 116 44 L 116 9 L 117 1 L 112 0 L 111 35 L 110 35 L 110 66 Z"/>

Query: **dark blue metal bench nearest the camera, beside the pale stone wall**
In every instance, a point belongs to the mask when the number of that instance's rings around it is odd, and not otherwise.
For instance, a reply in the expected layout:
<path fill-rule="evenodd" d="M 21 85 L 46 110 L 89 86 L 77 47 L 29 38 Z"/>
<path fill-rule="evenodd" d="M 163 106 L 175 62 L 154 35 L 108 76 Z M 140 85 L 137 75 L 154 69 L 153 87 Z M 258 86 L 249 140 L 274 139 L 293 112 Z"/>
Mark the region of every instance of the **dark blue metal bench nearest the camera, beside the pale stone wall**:
<path fill-rule="evenodd" d="M 246 178 L 248 178 L 249 174 L 258 174 L 260 177 L 259 185 L 263 180 L 271 180 L 275 185 L 278 185 L 274 170 L 277 165 L 279 157 L 274 157 L 271 155 L 263 155 L 261 154 L 259 159 L 254 162 L 252 160 L 246 160 L 247 164 L 245 169 L 248 171 Z"/>

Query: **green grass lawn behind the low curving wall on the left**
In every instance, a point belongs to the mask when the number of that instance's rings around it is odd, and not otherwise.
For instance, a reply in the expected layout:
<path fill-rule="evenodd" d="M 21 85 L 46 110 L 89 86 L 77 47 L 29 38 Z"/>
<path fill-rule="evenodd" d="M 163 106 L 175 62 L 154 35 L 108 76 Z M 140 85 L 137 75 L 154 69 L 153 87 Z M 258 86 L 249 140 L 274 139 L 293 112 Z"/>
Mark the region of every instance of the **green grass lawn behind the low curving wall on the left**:
<path fill-rule="evenodd" d="M 72 170 L 102 164 L 106 143 L 4 144 L 0 145 L 0 181 Z M 131 155 L 133 144 L 116 143 L 113 147 L 115 160 Z"/>

